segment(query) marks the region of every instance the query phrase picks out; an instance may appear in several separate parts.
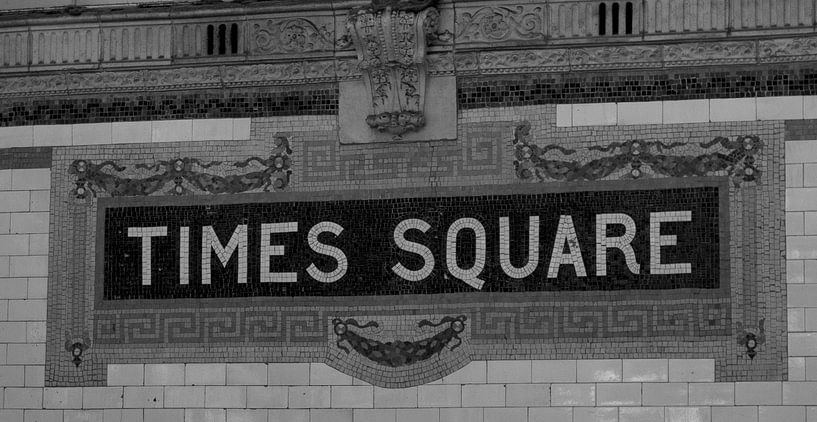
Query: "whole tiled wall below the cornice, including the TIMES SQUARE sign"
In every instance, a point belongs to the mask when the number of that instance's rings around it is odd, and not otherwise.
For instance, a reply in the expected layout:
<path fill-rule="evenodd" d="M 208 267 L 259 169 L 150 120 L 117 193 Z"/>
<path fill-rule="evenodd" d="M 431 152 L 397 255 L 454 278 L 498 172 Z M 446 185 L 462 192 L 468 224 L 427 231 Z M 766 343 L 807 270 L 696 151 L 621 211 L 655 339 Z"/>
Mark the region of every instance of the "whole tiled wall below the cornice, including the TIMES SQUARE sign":
<path fill-rule="evenodd" d="M 772 101 L 2 128 L 0 420 L 811 420 L 817 124 Z"/>

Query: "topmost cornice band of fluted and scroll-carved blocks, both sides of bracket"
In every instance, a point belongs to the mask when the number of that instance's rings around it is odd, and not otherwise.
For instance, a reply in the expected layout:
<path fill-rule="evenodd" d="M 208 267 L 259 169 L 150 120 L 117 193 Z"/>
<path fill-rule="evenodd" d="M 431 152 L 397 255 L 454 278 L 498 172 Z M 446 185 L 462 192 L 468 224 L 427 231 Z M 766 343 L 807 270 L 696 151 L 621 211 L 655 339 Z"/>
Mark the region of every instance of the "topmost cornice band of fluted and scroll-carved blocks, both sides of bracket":
<path fill-rule="evenodd" d="M 668 6 L 683 1 L 669 0 Z M 437 23 L 441 32 L 451 36 L 429 40 L 429 51 L 452 51 L 456 46 L 458 53 L 493 54 L 507 48 L 539 52 L 562 48 L 570 50 L 571 69 L 581 68 L 580 61 L 585 69 L 607 68 L 618 54 L 629 55 L 619 66 L 634 67 L 651 67 L 648 62 L 659 61 L 662 66 L 686 66 L 694 60 L 704 65 L 713 60 L 732 64 L 759 59 L 770 63 L 817 56 L 814 41 L 809 41 L 814 36 L 810 17 L 772 13 L 770 19 L 776 21 L 768 21 L 754 13 L 742 13 L 743 7 L 755 7 L 755 1 L 759 0 L 732 2 L 731 10 L 721 10 L 726 6 L 711 2 L 695 8 L 692 14 L 660 19 L 658 11 L 633 2 L 636 18 L 632 33 L 604 36 L 599 36 L 598 11 L 585 0 L 536 4 L 444 1 L 436 8 Z M 0 74 L 343 59 L 354 54 L 351 45 L 338 44 L 347 32 L 346 16 L 364 5 L 361 0 L 253 1 L 158 4 L 121 10 L 80 8 L 70 15 L 5 14 L 0 15 Z M 741 20 L 736 21 L 738 18 Z M 214 52 L 214 44 L 220 41 L 208 37 L 232 34 L 233 28 L 237 39 L 228 40 L 231 48 Z M 663 46 L 660 60 L 650 50 L 655 45 Z M 611 52 L 611 46 L 618 47 Z M 612 56 L 601 57 L 607 53 Z M 739 56 L 743 60 L 737 60 Z M 485 57 L 486 62 L 497 60 Z M 544 63 L 535 67 L 552 66 Z"/>

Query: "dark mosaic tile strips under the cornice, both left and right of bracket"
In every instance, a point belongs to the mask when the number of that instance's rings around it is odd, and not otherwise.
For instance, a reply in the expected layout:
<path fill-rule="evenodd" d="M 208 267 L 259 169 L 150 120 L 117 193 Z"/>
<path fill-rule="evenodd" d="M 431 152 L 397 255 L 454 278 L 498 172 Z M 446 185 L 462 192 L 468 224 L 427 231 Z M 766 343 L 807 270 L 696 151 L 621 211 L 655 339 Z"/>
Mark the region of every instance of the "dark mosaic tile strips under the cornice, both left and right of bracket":
<path fill-rule="evenodd" d="M 814 65 L 457 77 L 460 109 L 627 101 L 817 95 Z M 336 84 L 11 98 L 0 126 L 334 115 Z"/>

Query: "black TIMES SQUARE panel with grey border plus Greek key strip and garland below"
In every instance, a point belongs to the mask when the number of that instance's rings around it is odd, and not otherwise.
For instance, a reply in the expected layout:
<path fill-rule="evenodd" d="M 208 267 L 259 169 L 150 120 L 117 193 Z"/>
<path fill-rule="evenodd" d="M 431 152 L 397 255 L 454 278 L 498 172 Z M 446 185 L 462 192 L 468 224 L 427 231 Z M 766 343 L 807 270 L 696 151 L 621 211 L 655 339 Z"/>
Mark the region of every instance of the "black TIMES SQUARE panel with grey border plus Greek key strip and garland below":
<path fill-rule="evenodd" d="M 724 178 L 97 203 L 101 347 L 328 340 L 330 364 L 396 386 L 500 338 L 707 338 L 729 321 Z"/>

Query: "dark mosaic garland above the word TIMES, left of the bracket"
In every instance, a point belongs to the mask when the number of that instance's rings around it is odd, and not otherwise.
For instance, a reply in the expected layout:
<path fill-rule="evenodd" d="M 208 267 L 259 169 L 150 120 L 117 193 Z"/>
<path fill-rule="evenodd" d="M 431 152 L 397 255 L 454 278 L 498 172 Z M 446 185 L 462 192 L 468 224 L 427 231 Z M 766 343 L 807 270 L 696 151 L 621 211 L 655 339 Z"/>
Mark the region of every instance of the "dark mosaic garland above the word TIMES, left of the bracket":
<path fill-rule="evenodd" d="M 289 185 L 292 150 L 285 137 L 276 137 L 274 143 L 268 158 L 250 157 L 244 161 L 225 163 L 182 157 L 155 164 L 136 164 L 130 170 L 156 173 L 141 178 L 121 175 L 129 168 L 112 160 L 99 163 L 75 160 L 68 170 L 69 174 L 76 177 L 71 193 L 80 199 L 88 195 L 96 197 L 100 191 L 111 196 L 147 196 L 163 192 L 171 184 L 170 192 L 175 195 L 189 195 L 194 191 L 222 194 L 262 189 L 267 192 L 270 187 L 280 190 Z M 251 171 L 223 176 L 204 171 L 219 166 Z"/>

